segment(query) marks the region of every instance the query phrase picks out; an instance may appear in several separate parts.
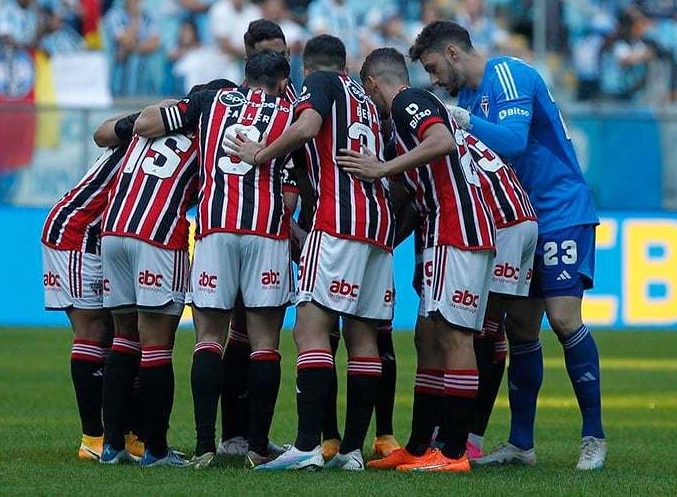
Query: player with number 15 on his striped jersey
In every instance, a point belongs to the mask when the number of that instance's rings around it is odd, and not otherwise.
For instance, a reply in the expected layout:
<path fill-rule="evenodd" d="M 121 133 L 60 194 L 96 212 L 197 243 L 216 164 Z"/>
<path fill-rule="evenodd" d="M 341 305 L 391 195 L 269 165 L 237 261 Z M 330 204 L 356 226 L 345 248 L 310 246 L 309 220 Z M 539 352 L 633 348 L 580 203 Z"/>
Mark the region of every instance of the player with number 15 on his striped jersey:
<path fill-rule="evenodd" d="M 189 222 L 197 193 L 194 137 L 134 136 L 103 221 L 104 305 L 113 311 L 114 353 L 104 373 L 105 446 L 101 462 L 132 458 L 122 445 L 127 398 L 139 361 L 143 466 L 185 466 L 167 445 L 174 399 L 172 349 L 188 287 Z"/>

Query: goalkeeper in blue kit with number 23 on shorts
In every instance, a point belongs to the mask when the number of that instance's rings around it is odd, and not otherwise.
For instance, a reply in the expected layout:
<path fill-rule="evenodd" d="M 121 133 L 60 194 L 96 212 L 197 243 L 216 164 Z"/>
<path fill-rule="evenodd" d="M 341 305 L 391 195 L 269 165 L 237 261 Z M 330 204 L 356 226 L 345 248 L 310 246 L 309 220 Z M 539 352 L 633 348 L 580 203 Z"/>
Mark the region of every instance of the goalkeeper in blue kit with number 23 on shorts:
<path fill-rule="evenodd" d="M 583 293 L 592 287 L 597 215 L 559 108 L 538 72 L 511 57 L 487 60 L 469 33 L 435 22 L 419 34 L 410 55 L 431 81 L 459 96 L 458 123 L 507 159 L 529 193 L 539 219 L 530 298 L 511 304 L 511 426 L 508 442 L 478 461 L 534 464 L 536 399 L 543 379 L 539 332 L 543 314 L 564 349 L 583 418 L 577 469 L 604 465 L 599 354 L 581 318 Z"/>

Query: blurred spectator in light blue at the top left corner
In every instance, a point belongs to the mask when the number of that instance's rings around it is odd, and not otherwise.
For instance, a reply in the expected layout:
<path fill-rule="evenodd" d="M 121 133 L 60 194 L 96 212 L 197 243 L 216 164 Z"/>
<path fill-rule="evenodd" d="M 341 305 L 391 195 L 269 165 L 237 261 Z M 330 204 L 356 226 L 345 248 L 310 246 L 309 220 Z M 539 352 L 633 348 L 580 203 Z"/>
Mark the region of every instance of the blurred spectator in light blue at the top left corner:
<path fill-rule="evenodd" d="M 4 0 L 0 3 L 2 48 L 33 48 L 38 37 L 38 10 L 33 0 Z"/>

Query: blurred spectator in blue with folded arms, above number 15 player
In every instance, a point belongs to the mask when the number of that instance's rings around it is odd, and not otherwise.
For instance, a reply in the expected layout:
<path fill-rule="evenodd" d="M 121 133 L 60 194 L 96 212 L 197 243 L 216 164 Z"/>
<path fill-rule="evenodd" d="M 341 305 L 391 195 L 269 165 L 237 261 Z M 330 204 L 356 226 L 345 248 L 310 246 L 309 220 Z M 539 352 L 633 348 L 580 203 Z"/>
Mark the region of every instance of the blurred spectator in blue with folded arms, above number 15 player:
<path fill-rule="evenodd" d="M 113 95 L 158 95 L 162 77 L 160 37 L 141 0 L 123 0 L 112 7 L 106 13 L 104 28 L 111 55 Z"/>

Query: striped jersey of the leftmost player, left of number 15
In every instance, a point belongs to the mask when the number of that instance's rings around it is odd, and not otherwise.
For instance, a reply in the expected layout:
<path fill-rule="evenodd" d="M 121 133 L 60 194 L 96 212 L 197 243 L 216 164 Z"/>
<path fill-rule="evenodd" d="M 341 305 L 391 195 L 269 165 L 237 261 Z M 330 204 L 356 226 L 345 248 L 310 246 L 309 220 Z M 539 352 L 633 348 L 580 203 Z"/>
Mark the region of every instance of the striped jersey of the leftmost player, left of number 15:
<path fill-rule="evenodd" d="M 57 250 L 101 251 L 101 220 L 126 147 L 106 150 L 73 189 L 49 211 L 42 243 Z"/>

